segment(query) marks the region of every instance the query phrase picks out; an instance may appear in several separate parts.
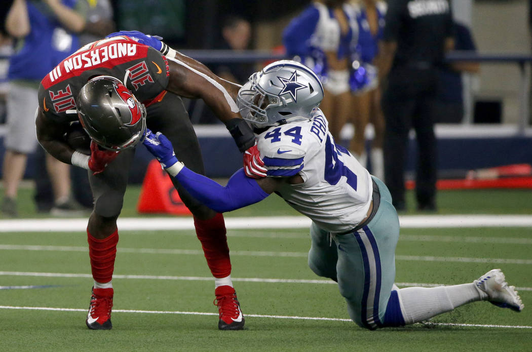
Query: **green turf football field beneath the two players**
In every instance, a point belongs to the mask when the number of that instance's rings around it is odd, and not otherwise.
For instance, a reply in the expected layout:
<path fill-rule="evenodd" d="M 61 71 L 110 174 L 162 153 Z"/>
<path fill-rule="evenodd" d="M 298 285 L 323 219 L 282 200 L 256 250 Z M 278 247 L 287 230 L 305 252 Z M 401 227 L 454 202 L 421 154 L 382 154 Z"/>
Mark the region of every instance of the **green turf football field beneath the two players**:
<path fill-rule="evenodd" d="M 123 216 L 137 216 L 137 197 L 138 187 L 131 187 Z M 45 216 L 35 214 L 31 190 L 19 198 L 24 217 Z M 413 204 L 411 193 L 409 200 Z M 438 205 L 438 214 L 530 215 L 532 192 L 440 191 Z M 271 196 L 226 216 L 253 215 L 296 213 Z M 532 350 L 532 228 L 402 229 L 396 252 L 400 287 L 471 282 L 501 267 L 525 309 L 514 313 L 477 302 L 428 325 L 367 331 L 349 320 L 336 284 L 307 266 L 307 229 L 253 229 L 251 223 L 248 230 L 228 230 L 245 331 L 217 329 L 213 280 L 192 230 L 120 232 L 111 331 L 85 326 L 92 279 L 84 231 L 0 233 L 0 287 L 52 286 L 0 289 L 3 350 Z"/>

